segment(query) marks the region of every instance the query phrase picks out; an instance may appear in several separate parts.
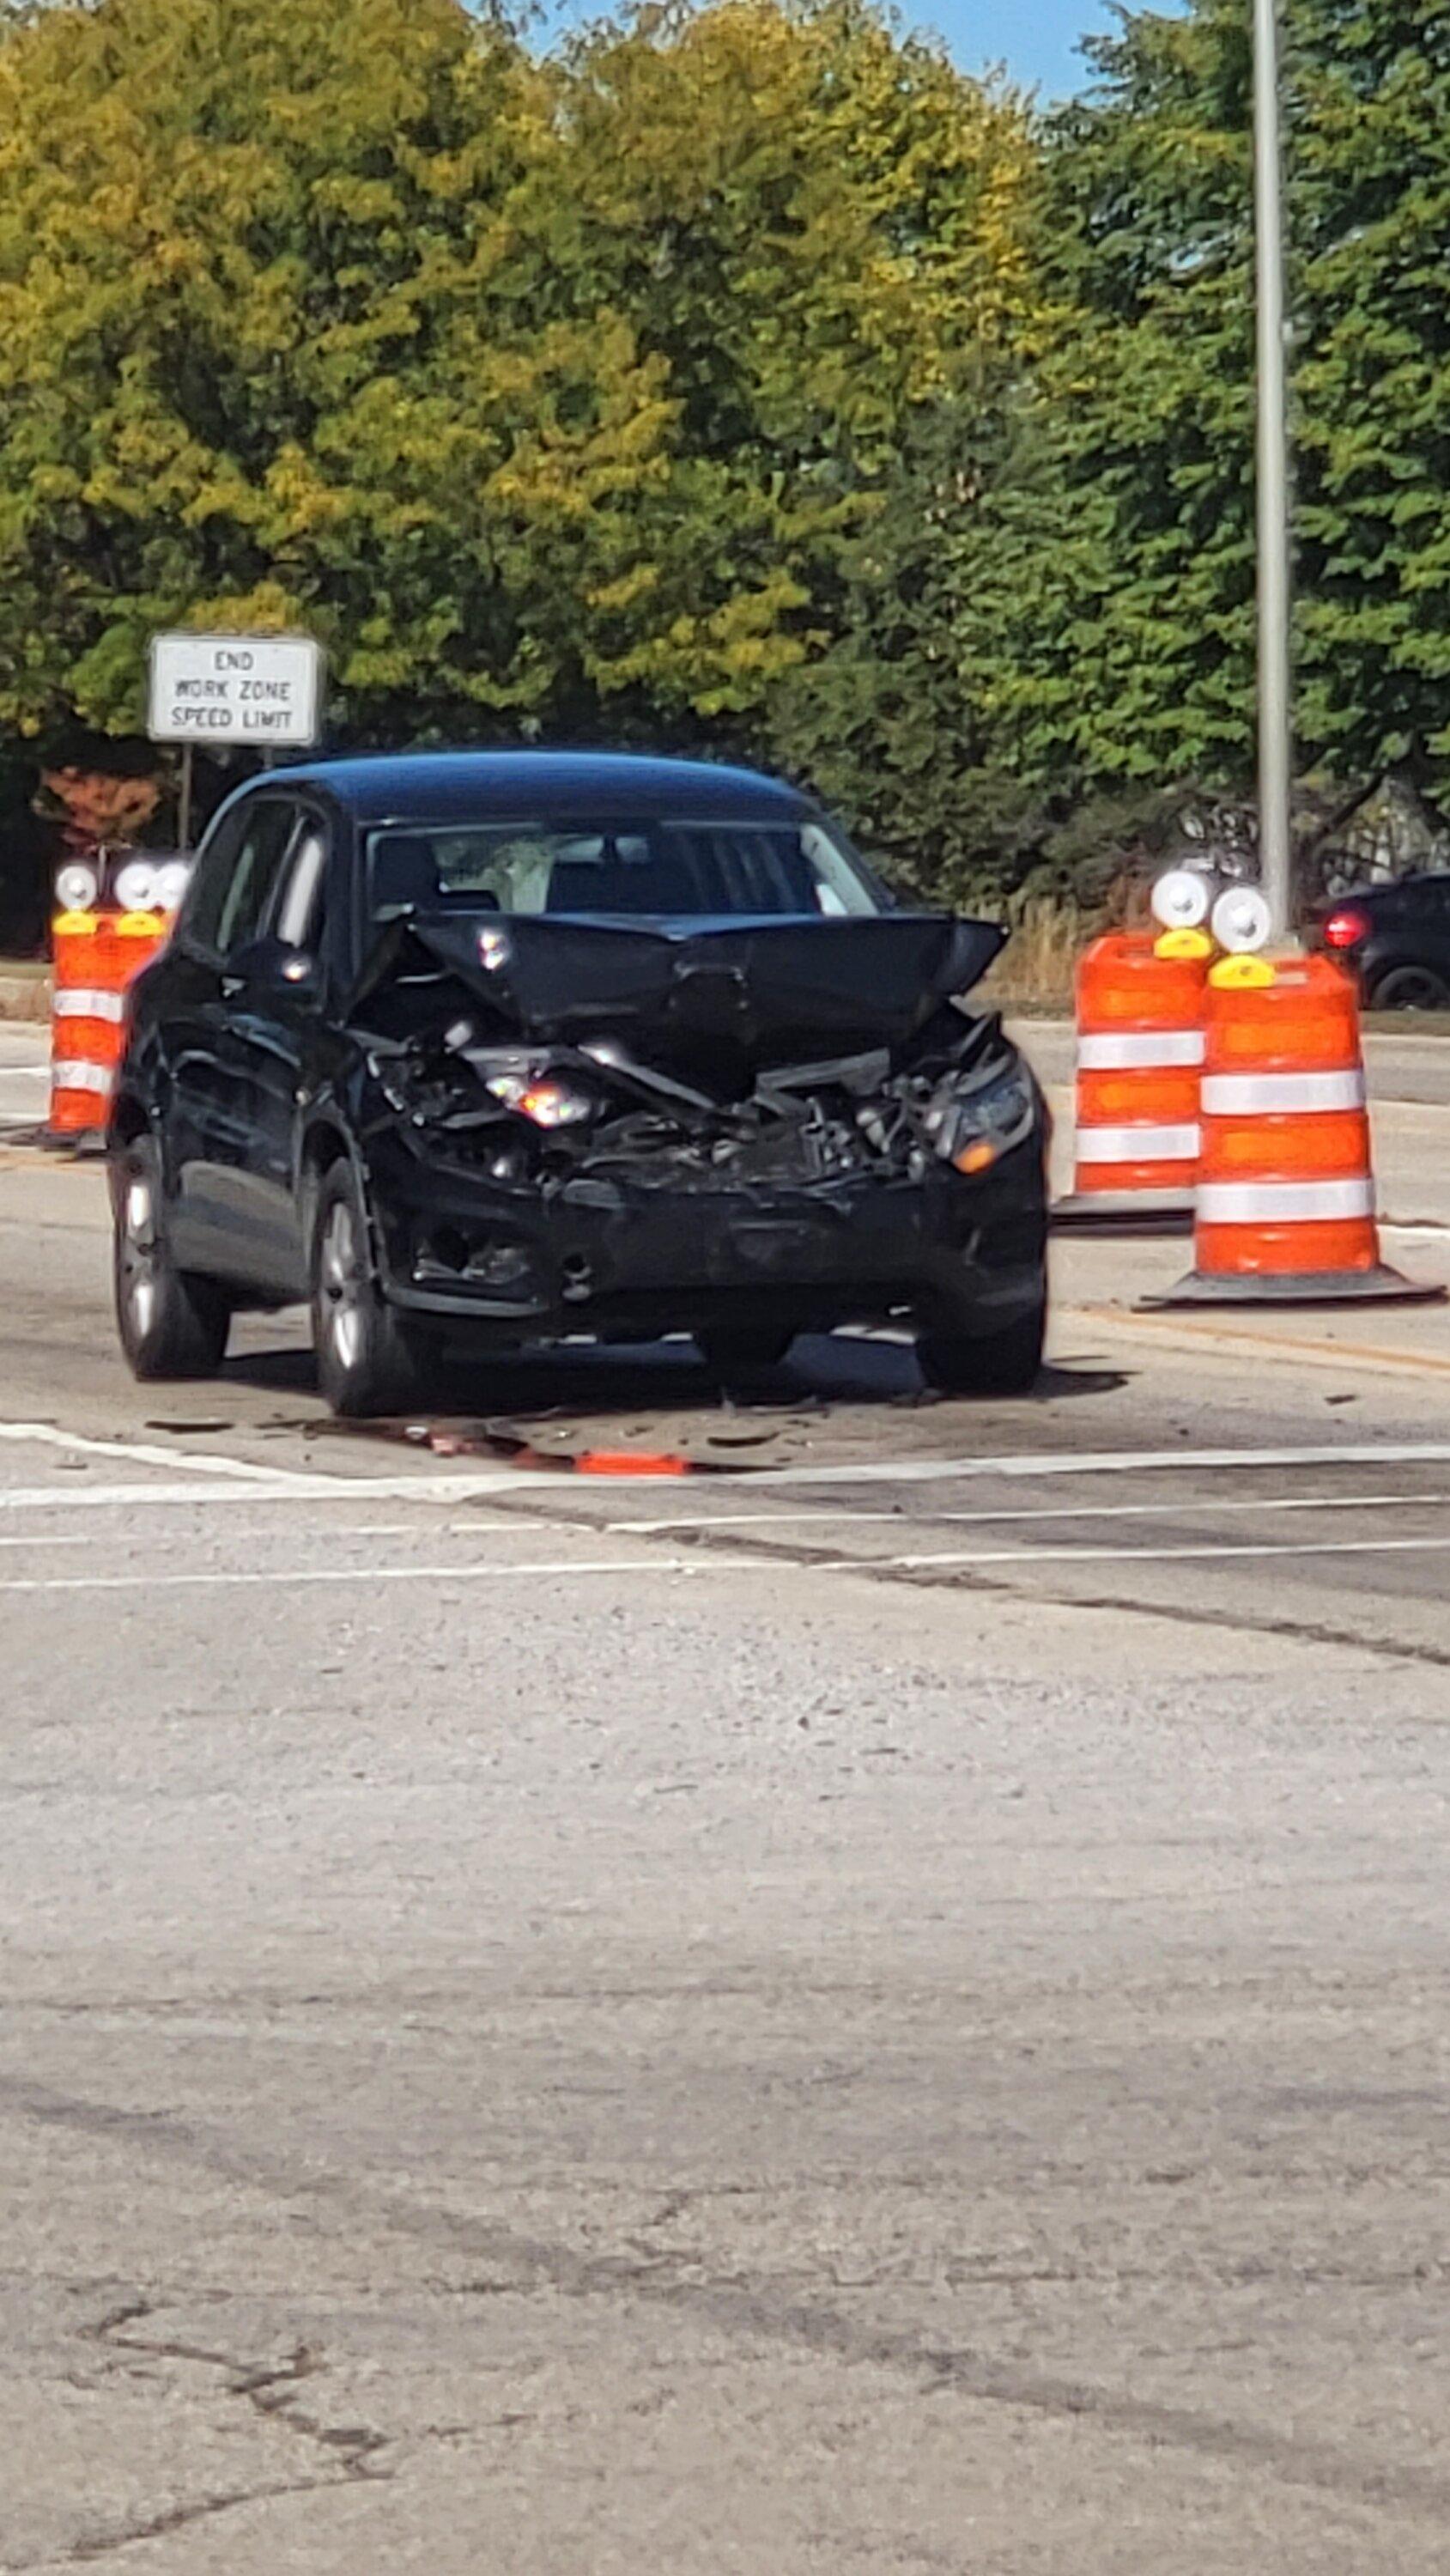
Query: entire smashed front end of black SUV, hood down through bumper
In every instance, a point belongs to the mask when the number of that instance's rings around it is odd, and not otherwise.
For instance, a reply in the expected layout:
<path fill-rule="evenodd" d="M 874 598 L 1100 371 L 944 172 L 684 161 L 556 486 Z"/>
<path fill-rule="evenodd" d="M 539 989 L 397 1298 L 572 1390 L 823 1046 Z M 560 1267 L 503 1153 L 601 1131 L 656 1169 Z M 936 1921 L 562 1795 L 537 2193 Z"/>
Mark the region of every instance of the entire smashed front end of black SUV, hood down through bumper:
<path fill-rule="evenodd" d="M 1043 1103 L 958 999 L 997 945 L 909 914 L 394 925 L 353 1007 L 389 1296 L 533 1337 L 878 1319 L 963 1265 L 1010 1293 Z"/>

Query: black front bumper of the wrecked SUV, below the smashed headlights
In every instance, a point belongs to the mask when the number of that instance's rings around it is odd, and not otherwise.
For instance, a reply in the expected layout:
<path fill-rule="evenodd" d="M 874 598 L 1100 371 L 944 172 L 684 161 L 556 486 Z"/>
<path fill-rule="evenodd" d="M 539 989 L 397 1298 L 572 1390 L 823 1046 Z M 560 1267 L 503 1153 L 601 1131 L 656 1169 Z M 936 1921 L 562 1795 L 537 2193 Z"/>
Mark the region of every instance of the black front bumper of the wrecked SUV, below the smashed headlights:
<path fill-rule="evenodd" d="M 384 1139 L 368 1185 L 386 1298 L 494 1340 L 731 1314 L 829 1329 L 904 1309 L 997 1332 L 1043 1291 L 1040 1133 L 976 1177 L 943 1164 L 734 1188 L 587 1172 L 500 1188 Z"/>

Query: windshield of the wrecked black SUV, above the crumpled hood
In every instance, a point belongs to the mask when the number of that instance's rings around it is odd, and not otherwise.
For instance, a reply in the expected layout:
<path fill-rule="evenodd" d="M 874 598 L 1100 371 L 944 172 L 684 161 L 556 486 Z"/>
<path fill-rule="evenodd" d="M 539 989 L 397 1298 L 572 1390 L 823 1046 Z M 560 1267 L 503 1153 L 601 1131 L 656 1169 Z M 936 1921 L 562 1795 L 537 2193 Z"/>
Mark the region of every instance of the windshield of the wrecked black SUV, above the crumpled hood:
<path fill-rule="evenodd" d="M 371 835 L 371 912 L 747 917 L 881 912 L 824 822 L 469 822 Z"/>

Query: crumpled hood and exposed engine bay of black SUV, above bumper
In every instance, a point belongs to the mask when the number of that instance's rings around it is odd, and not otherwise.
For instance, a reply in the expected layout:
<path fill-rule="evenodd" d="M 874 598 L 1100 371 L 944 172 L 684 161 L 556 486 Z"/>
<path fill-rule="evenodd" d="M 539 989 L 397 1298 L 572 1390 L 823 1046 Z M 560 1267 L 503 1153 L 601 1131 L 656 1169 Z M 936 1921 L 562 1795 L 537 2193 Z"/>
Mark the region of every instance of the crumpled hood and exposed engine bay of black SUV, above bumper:
<path fill-rule="evenodd" d="M 999 1018 L 958 997 L 997 945 L 912 914 L 407 917 L 361 976 L 350 1033 L 376 1123 L 505 1190 L 585 1172 L 672 1193 L 974 1177 L 1043 1115 Z"/>

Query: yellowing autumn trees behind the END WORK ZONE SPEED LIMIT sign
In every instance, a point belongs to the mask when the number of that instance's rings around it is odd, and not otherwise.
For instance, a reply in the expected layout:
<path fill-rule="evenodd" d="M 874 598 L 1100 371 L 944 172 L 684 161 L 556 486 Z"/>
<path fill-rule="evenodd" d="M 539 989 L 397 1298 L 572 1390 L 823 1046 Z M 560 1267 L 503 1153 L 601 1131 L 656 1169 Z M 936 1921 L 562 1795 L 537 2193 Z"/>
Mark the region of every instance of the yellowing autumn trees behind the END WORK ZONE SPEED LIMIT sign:
<path fill-rule="evenodd" d="M 0 49 L 0 721 L 296 623 L 353 739 L 765 742 L 1020 330 L 1030 167 L 855 0 L 543 62 L 456 0 L 57 0 Z"/>

